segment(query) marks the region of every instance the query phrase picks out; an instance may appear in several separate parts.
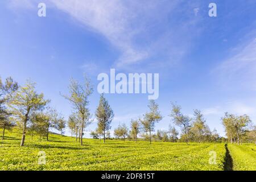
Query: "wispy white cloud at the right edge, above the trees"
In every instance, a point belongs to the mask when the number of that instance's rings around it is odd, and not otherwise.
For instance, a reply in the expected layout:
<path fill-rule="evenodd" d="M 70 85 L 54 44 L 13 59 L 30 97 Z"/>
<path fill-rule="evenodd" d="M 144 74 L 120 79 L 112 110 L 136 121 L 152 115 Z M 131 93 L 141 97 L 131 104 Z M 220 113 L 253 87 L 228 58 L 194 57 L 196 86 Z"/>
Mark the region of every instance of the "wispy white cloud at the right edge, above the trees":
<path fill-rule="evenodd" d="M 232 49 L 232 56 L 214 71 L 226 86 L 256 90 L 256 37 Z"/>

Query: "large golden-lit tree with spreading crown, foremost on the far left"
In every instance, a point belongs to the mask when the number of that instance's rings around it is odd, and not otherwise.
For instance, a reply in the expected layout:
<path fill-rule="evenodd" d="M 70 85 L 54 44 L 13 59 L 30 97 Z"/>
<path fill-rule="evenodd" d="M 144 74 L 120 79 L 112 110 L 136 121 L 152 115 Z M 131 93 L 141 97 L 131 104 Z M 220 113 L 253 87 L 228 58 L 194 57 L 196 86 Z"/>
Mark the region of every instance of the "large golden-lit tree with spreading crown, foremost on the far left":
<path fill-rule="evenodd" d="M 43 110 L 49 100 L 44 100 L 43 93 L 36 93 L 35 83 L 27 81 L 25 86 L 22 86 L 14 94 L 9 103 L 12 113 L 20 119 L 23 126 L 22 140 L 20 146 L 24 146 L 25 136 L 27 131 L 27 122 L 30 119 L 31 113 Z"/>

